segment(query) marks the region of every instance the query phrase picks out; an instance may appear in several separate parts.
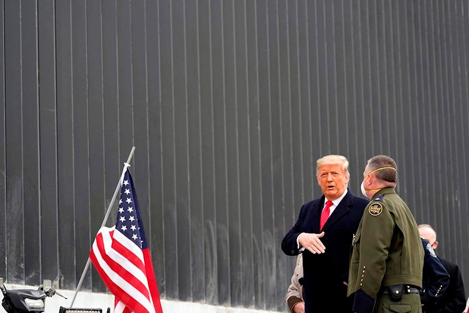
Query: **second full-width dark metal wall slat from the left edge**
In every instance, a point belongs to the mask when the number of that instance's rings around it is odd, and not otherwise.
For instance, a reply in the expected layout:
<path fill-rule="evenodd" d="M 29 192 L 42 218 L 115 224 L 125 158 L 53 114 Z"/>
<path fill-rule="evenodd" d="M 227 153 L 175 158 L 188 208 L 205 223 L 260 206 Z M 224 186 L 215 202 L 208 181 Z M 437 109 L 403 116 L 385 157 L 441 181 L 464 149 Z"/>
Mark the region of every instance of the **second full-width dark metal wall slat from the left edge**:
<path fill-rule="evenodd" d="M 23 3 L 22 3 L 23 4 Z M 21 103 L 23 145 L 23 224 L 27 226 L 24 241 L 24 278 L 26 284 L 37 284 L 41 277 L 39 207 L 39 99 L 37 61 L 37 6 L 21 5 Z M 28 223 L 33 219 L 35 222 Z"/>

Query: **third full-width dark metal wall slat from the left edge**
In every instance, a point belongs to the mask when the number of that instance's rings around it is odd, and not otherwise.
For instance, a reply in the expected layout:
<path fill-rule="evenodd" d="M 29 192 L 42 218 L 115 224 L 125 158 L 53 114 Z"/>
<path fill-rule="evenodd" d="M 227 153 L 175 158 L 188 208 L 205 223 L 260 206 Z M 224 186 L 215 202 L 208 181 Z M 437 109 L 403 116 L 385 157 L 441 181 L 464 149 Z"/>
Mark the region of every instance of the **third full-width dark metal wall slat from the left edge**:
<path fill-rule="evenodd" d="M 42 277 L 59 279 L 55 4 L 38 2 L 39 169 Z M 51 223 L 51 221 L 53 223 Z M 33 285 L 41 282 L 40 277 Z"/>

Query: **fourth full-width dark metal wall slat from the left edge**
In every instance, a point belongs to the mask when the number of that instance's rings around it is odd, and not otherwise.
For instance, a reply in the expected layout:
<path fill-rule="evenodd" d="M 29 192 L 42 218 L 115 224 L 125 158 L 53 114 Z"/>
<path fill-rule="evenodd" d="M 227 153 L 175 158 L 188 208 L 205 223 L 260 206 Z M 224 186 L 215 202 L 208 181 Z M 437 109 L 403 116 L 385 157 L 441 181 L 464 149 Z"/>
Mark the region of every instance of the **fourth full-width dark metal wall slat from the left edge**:
<path fill-rule="evenodd" d="M 71 3 L 55 2 L 57 77 L 57 183 L 59 206 L 59 274 L 61 288 L 74 289 L 76 219 L 73 190 L 73 120 Z"/>

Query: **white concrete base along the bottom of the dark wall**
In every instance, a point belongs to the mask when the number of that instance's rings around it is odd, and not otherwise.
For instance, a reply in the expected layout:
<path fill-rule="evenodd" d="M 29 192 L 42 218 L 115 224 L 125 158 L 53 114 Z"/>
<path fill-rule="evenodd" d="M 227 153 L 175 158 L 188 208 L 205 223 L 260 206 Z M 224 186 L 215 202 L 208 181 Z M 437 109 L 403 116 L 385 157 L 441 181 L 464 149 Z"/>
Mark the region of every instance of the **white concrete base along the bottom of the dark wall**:
<path fill-rule="evenodd" d="M 5 283 L 7 289 L 37 289 L 38 286 L 24 286 Z M 70 307 L 70 302 L 75 294 L 75 291 L 71 290 L 58 290 L 60 294 L 66 296 L 68 299 L 59 297 L 58 295 L 52 298 L 47 298 L 45 301 L 45 313 L 58 313 L 60 307 Z M 0 294 L 1 296 L 1 294 Z M 101 308 L 106 313 L 107 308 L 114 306 L 114 296 L 112 294 L 97 293 L 97 292 L 86 292 L 80 291 L 77 294 L 74 308 Z M 230 308 L 213 306 L 195 302 L 182 302 L 182 301 L 171 301 L 161 300 L 161 306 L 164 313 L 278 313 L 277 311 L 264 311 L 255 309 L 244 309 L 244 308 Z M 1 310 L 1 309 L 0 309 Z M 286 312 L 286 310 L 285 310 Z"/>

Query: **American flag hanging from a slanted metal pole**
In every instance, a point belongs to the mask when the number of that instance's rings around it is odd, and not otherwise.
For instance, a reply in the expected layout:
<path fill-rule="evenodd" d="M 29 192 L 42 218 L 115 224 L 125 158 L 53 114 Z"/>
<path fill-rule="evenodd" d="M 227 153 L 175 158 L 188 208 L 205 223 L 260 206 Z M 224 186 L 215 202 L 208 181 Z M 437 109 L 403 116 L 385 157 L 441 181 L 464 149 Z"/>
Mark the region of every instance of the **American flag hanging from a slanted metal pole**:
<path fill-rule="evenodd" d="M 89 257 L 115 296 L 114 313 L 163 312 L 128 169 L 122 183 L 116 225 L 98 231 Z"/>

